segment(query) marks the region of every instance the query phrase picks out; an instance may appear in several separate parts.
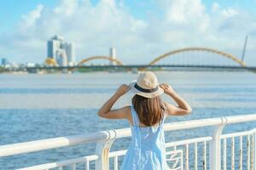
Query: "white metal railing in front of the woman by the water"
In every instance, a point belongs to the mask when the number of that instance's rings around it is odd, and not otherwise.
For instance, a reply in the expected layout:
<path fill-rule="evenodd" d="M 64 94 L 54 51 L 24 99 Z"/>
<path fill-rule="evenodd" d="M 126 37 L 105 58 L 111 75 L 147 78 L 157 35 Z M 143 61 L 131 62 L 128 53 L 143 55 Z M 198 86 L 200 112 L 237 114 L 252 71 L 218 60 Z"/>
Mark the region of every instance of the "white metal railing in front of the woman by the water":
<path fill-rule="evenodd" d="M 165 132 L 191 129 L 197 127 L 212 127 L 209 136 L 195 139 L 183 139 L 166 143 L 166 161 L 171 169 L 236 169 L 256 170 L 256 128 L 236 133 L 222 134 L 227 124 L 256 121 L 256 114 L 242 116 L 226 116 L 200 119 L 186 122 L 172 122 L 164 125 Z M 77 164 L 84 164 L 84 169 L 108 170 L 109 164 L 113 169 L 119 168 L 119 157 L 125 156 L 126 150 L 110 152 L 115 139 L 131 137 L 130 128 L 113 129 L 96 133 L 80 134 L 54 139 L 43 139 L 19 144 L 0 146 L 0 158 L 15 156 L 39 150 L 55 149 L 75 144 L 96 143 L 96 153 L 90 156 L 56 161 L 23 170 L 61 170 L 63 167 L 77 169 Z M 238 147 L 237 147 L 238 146 Z M 246 146 L 246 147 L 245 147 Z M 237 151 L 238 150 L 238 151 Z M 237 153 L 238 152 L 238 153 Z M 230 153 L 230 157 L 227 156 Z M 112 159 L 109 163 L 109 160 Z M 227 161 L 230 164 L 227 164 Z M 246 161 L 246 164 L 244 162 Z M 93 166 L 91 166 L 93 162 Z"/>

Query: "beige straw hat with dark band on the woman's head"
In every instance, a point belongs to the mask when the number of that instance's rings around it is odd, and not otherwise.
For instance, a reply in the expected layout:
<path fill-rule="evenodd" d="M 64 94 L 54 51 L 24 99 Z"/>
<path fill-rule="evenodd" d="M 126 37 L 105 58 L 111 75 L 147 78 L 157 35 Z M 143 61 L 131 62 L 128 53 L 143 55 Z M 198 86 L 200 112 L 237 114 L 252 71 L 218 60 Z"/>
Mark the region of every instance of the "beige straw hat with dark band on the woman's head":
<path fill-rule="evenodd" d="M 141 95 L 145 98 L 154 98 L 164 93 L 160 88 L 157 78 L 151 71 L 143 71 L 137 77 L 137 80 L 132 81 L 129 85 L 131 92 Z"/>

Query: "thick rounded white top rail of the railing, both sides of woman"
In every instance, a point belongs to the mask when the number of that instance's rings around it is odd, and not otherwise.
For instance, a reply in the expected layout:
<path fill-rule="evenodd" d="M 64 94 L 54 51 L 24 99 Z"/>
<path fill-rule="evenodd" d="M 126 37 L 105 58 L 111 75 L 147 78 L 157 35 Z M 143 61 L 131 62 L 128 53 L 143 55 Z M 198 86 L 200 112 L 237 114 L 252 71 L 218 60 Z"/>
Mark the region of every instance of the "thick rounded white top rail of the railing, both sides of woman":
<path fill-rule="evenodd" d="M 217 118 L 199 119 L 185 122 L 170 122 L 164 125 L 166 132 L 183 130 L 196 127 L 218 126 L 222 124 L 230 124 L 237 122 L 256 121 L 256 114 L 242 116 L 222 116 Z M 96 142 L 99 140 L 120 139 L 131 136 L 131 129 L 121 128 L 96 133 L 84 133 L 67 137 L 59 137 L 53 139 L 42 139 L 18 144 L 6 144 L 0 146 L 1 156 L 12 156 L 22 153 L 28 153 L 39 150 L 48 150 L 74 144 L 84 144 Z"/>

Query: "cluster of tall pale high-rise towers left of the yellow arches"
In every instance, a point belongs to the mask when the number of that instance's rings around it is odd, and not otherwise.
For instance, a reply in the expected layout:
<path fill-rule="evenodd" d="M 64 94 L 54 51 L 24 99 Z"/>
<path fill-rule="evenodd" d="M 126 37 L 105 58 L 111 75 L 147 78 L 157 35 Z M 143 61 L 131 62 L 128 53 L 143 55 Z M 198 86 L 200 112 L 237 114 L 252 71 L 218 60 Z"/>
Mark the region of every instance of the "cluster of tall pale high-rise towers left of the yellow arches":
<path fill-rule="evenodd" d="M 75 65 L 74 43 L 64 42 L 64 38 L 60 36 L 51 37 L 47 42 L 47 58 L 55 59 L 58 65 Z"/>

